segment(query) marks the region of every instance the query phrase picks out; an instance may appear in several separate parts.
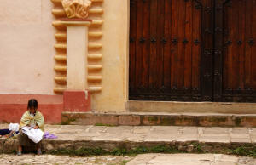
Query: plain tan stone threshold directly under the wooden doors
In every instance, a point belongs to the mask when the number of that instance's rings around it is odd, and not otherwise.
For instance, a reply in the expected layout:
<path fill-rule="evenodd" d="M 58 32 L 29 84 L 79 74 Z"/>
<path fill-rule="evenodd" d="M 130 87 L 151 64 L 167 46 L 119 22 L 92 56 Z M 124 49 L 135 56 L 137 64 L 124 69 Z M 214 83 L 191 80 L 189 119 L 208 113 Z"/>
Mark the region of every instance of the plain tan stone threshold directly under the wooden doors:
<path fill-rule="evenodd" d="M 131 112 L 256 114 L 256 103 L 129 100 Z"/>

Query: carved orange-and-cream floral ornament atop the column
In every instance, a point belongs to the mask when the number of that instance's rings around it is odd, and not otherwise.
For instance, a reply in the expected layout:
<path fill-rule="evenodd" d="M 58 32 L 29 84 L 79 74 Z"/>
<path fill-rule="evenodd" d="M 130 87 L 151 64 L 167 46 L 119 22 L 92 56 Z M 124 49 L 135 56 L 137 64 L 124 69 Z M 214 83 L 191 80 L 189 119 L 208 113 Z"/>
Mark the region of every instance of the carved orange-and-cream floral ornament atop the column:
<path fill-rule="evenodd" d="M 85 19 L 88 17 L 90 0 L 62 0 L 61 3 L 68 18 Z"/>

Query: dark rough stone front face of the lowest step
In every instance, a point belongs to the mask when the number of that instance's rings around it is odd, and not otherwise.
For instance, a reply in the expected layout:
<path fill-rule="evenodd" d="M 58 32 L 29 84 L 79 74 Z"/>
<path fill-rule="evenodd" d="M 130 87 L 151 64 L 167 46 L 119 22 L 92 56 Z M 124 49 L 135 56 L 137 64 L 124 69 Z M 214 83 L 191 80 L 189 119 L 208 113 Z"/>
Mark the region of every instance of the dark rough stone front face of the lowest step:
<path fill-rule="evenodd" d="M 18 141 L 17 139 L 0 139 L 1 153 L 14 153 L 16 152 Z M 114 150 L 132 151 L 137 147 L 145 148 L 145 153 L 150 153 L 154 147 L 167 147 L 173 150 L 172 153 L 221 153 L 221 154 L 238 154 L 236 149 L 243 148 L 249 151 L 256 151 L 256 143 L 220 143 L 220 142 L 199 142 L 199 141 L 114 141 L 114 140 L 57 140 L 57 139 L 44 139 L 42 144 L 42 151 L 46 153 L 59 153 L 58 151 L 76 151 L 79 149 L 92 149 L 96 150 L 101 148 L 102 151 L 112 152 Z M 150 149 L 151 148 L 151 149 Z M 35 149 L 28 149 L 28 151 L 35 151 Z M 152 150 L 151 150 L 152 151 Z M 154 153 L 163 152 L 154 151 Z M 63 152 L 64 153 L 64 152 Z M 65 154 L 65 153 L 64 153 Z M 67 153 L 66 153 L 67 154 Z M 68 154 L 67 154 L 68 155 Z"/>

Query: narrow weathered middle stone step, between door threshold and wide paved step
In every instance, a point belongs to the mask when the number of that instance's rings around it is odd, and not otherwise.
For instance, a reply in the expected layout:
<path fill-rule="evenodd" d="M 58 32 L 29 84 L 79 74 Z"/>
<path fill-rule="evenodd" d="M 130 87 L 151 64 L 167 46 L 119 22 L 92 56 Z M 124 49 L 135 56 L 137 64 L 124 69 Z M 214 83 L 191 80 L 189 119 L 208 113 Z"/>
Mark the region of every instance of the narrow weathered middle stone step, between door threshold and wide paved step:
<path fill-rule="evenodd" d="M 256 127 L 256 114 L 62 112 L 61 122 L 70 125 Z"/>

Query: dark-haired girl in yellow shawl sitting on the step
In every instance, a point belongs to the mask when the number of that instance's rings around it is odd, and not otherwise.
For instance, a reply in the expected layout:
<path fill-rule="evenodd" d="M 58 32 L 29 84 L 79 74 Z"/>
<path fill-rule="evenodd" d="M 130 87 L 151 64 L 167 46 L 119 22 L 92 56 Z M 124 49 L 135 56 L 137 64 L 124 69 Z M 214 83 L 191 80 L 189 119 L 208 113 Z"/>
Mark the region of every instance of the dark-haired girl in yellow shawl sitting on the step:
<path fill-rule="evenodd" d="M 22 146 L 35 146 L 38 150 L 38 155 L 41 152 L 41 142 L 34 143 L 28 136 L 22 132 L 23 127 L 31 127 L 34 129 L 41 129 L 44 132 L 44 117 L 41 112 L 38 111 L 38 101 L 37 100 L 29 100 L 27 104 L 27 111 L 23 114 L 20 120 L 20 134 L 18 136 L 19 140 L 19 148 L 18 148 L 18 156 L 21 155 Z"/>

